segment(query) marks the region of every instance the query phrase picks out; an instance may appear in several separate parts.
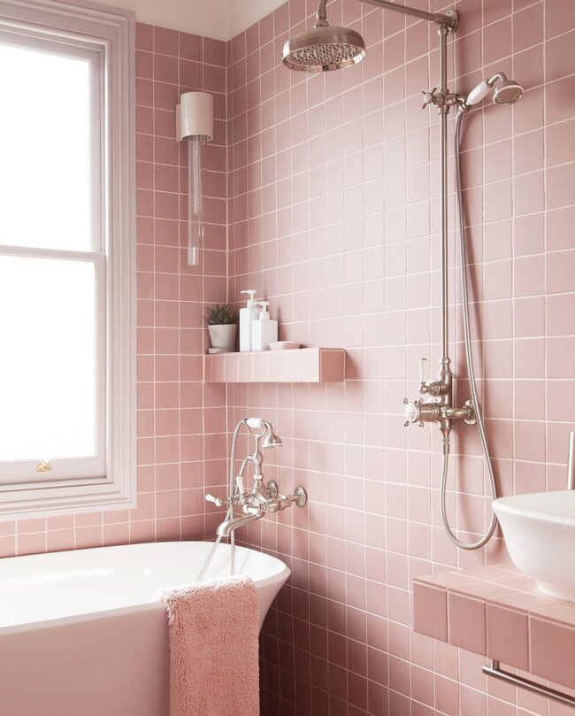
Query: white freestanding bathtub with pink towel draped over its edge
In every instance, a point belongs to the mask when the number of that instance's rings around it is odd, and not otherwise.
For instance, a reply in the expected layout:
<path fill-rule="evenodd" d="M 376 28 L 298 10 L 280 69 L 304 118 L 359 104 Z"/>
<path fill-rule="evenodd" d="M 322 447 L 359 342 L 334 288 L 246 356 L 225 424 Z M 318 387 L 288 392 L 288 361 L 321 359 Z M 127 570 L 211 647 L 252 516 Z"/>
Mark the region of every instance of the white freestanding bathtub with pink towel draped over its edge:
<path fill-rule="evenodd" d="M 196 581 L 211 543 L 170 542 L 0 559 L 1 716 L 168 716 L 167 617 L 157 595 Z M 236 547 L 260 628 L 288 579 L 280 559 Z M 229 574 L 220 544 L 205 579 Z M 222 624 L 222 629 L 242 627 Z"/>

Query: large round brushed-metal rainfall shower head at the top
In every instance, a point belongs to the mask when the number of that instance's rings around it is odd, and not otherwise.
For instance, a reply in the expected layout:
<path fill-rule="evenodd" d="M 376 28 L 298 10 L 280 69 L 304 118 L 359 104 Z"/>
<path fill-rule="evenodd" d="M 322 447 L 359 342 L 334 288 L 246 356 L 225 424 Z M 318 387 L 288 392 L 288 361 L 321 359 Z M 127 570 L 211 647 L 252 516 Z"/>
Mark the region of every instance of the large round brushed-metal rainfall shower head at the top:
<path fill-rule="evenodd" d="M 297 72 L 328 72 L 364 59 L 364 38 L 356 30 L 327 24 L 326 0 L 319 0 L 316 18 L 311 30 L 290 37 L 284 44 L 284 65 Z"/>

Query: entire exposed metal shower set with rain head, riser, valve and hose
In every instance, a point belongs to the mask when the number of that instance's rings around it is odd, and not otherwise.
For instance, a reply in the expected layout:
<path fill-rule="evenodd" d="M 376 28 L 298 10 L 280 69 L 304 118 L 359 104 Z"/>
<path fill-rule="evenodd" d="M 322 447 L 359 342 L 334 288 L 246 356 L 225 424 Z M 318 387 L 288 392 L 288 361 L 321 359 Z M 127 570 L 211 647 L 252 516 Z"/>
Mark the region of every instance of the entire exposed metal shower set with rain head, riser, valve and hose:
<path fill-rule="evenodd" d="M 483 547 L 495 532 L 497 520 L 495 513 L 485 535 L 477 542 L 461 542 L 449 526 L 446 511 L 447 475 L 449 466 L 449 447 L 451 431 L 457 420 L 468 425 L 477 425 L 481 446 L 485 457 L 492 497 L 497 497 L 495 474 L 489 456 L 487 437 L 483 417 L 479 406 L 475 373 L 472 357 L 472 339 L 470 333 L 467 258 L 464 233 L 464 212 L 461 188 L 459 147 L 461 142 L 461 125 L 466 112 L 473 104 L 479 103 L 493 89 L 495 104 L 512 104 L 523 95 L 523 89 L 517 82 L 508 80 L 503 73 L 495 73 L 466 98 L 456 92 L 449 91 L 447 69 L 447 38 L 457 28 L 458 17 L 454 10 L 445 14 L 425 12 L 407 5 L 390 2 L 390 0 L 361 0 L 376 5 L 384 10 L 403 12 L 419 19 L 426 19 L 438 26 L 440 36 L 440 87 L 423 90 L 424 109 L 432 104 L 440 114 L 440 157 L 441 157 L 441 358 L 438 378 L 430 381 L 426 378 L 426 359 L 420 362 L 419 393 L 427 396 L 410 402 L 405 398 L 405 427 L 417 423 L 423 427 L 425 423 L 437 423 L 442 435 L 443 466 L 441 470 L 441 517 L 451 542 L 462 550 L 477 550 Z M 356 65 L 365 57 L 365 42 L 361 35 L 348 27 L 329 27 L 326 16 L 326 0 L 320 0 L 316 22 L 311 30 L 290 37 L 284 45 L 283 62 L 290 70 L 299 72 L 326 72 L 339 70 L 342 67 Z M 449 322 L 448 322 L 448 118 L 452 107 L 456 107 L 456 194 L 458 210 L 459 247 L 460 247 L 460 279 L 462 285 L 464 311 L 465 358 L 469 374 L 471 400 L 461 407 L 454 405 L 454 374 L 451 371 L 449 358 Z"/>

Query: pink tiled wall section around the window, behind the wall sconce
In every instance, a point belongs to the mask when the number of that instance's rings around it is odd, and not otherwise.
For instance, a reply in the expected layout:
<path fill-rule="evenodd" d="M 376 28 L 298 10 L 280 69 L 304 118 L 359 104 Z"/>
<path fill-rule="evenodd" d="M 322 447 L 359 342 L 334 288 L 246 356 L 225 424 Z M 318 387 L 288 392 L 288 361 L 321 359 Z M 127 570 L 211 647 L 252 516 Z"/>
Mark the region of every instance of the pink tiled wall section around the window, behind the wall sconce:
<path fill-rule="evenodd" d="M 202 382 L 202 315 L 226 294 L 226 45 L 139 25 L 136 75 L 138 506 L 0 522 L 0 556 L 203 538 L 204 487 L 225 471 L 226 395 Z M 199 270 L 186 264 L 186 155 L 175 142 L 188 89 L 215 99 Z"/>

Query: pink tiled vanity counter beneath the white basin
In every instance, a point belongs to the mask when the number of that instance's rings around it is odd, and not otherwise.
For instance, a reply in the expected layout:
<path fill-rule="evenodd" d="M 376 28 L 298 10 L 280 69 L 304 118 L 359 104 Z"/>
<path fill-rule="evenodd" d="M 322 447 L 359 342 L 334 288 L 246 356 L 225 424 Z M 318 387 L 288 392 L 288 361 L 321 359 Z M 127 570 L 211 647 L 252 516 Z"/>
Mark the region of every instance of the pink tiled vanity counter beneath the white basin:
<path fill-rule="evenodd" d="M 420 634 L 575 688 L 575 602 L 511 563 L 418 577 L 413 600 Z"/>

